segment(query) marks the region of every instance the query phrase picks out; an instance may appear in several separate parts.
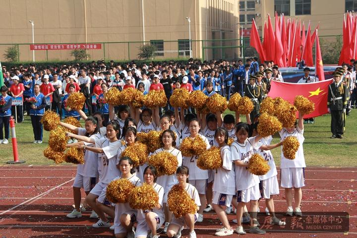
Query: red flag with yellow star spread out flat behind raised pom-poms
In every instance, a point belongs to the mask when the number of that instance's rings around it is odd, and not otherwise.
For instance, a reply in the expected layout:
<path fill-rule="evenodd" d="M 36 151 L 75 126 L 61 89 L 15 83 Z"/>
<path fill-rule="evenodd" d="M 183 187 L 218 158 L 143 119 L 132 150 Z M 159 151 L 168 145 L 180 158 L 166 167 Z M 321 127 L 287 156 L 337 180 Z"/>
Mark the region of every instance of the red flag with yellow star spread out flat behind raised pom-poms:
<path fill-rule="evenodd" d="M 315 103 L 315 111 L 309 115 L 304 115 L 304 119 L 315 118 L 327 114 L 327 94 L 331 83 L 332 79 L 314 83 L 285 83 L 271 81 L 271 89 L 268 96 L 271 98 L 282 97 L 291 104 L 294 104 L 295 97 L 297 95 L 302 95 Z"/>

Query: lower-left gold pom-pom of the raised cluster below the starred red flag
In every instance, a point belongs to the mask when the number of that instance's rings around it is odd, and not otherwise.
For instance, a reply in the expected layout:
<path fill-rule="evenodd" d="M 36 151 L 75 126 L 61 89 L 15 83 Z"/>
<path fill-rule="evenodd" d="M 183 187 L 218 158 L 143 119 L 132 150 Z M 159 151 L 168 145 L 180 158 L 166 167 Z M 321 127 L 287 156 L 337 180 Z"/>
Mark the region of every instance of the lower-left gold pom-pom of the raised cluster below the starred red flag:
<path fill-rule="evenodd" d="M 282 129 L 282 123 L 274 116 L 267 113 L 262 113 L 259 117 L 259 124 L 257 127 L 259 135 L 267 137 L 274 135 Z"/>

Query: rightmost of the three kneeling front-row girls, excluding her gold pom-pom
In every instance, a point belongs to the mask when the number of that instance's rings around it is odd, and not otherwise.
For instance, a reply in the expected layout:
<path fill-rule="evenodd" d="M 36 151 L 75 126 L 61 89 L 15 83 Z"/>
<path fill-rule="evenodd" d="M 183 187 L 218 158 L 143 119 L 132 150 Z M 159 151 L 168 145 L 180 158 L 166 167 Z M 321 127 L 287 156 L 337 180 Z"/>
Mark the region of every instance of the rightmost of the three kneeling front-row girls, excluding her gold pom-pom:
<path fill-rule="evenodd" d="M 179 185 L 185 189 L 188 195 L 194 200 L 196 204 L 196 210 L 198 211 L 199 207 L 201 206 L 200 197 L 196 188 L 192 184 L 188 183 L 189 169 L 186 166 L 180 166 L 176 171 L 176 178 L 179 181 Z M 197 217 L 198 213 L 185 214 L 180 218 L 176 218 L 174 216 L 167 230 L 168 237 L 180 238 L 183 226 L 186 225 L 189 229 L 189 238 L 196 238 L 194 224 L 197 221 Z"/>

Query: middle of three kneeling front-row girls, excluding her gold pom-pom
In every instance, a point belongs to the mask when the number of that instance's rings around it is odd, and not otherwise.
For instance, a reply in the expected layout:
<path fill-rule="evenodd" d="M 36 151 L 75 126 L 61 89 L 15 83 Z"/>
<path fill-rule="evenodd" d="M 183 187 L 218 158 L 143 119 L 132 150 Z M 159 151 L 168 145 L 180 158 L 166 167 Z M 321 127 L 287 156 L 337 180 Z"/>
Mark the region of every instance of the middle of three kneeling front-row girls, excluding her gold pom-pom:
<path fill-rule="evenodd" d="M 158 204 L 151 210 L 138 210 L 135 238 L 159 238 L 156 230 L 164 224 L 164 213 L 162 211 L 164 188 L 156 183 L 157 171 L 153 166 L 147 166 L 144 170 L 144 180 L 154 187 L 159 195 Z M 150 234 L 148 236 L 148 231 Z"/>

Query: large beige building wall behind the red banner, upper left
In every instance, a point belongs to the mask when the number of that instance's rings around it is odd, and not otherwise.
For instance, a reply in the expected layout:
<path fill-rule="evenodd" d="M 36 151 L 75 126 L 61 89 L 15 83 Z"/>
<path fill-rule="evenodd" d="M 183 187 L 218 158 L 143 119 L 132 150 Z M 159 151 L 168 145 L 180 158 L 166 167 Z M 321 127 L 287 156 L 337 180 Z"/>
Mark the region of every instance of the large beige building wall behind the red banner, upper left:
<path fill-rule="evenodd" d="M 177 51 L 179 39 L 189 39 L 191 19 L 194 58 L 236 57 L 237 48 L 220 52 L 203 49 L 236 46 L 236 41 L 201 40 L 238 38 L 238 0 L 143 0 L 145 41 L 164 40 L 164 51 Z M 141 0 L 0 0 L 2 24 L 0 60 L 11 44 L 105 43 L 101 50 L 89 50 L 91 59 L 133 60 L 143 41 Z M 8 9 L 8 10 L 5 10 Z M 86 13 L 86 14 L 85 14 Z M 111 43 L 116 42 L 116 43 Z M 131 42 L 131 43 L 128 43 Z M 31 61 L 29 45 L 19 45 L 20 61 Z M 165 53 L 161 58 L 177 58 Z M 70 50 L 35 51 L 35 60 L 73 60 Z"/>

